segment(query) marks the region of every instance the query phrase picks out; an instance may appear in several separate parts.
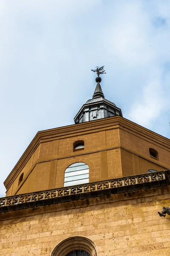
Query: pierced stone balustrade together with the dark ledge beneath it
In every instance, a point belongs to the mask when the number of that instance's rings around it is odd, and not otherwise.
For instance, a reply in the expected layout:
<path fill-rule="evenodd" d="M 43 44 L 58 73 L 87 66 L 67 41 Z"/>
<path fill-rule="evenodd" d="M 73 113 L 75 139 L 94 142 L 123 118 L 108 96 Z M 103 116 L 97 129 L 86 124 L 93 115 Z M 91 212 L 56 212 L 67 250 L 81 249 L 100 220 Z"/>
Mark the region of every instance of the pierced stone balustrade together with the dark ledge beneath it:
<path fill-rule="evenodd" d="M 167 186 L 170 184 L 170 170 L 135 175 L 113 180 L 105 180 L 95 183 L 86 183 L 78 186 L 63 187 L 41 192 L 15 195 L 0 198 L 0 212 L 8 212 L 18 209 L 32 208 L 61 203 L 70 200 L 78 200 L 90 197 L 105 195 L 104 191 L 112 189 L 112 193 L 122 193 L 150 187 Z M 102 193 L 99 193 L 101 192 Z M 94 194 L 97 192 L 97 194 Z M 86 194 L 84 195 L 84 194 Z M 78 195 L 77 199 L 74 196 Z M 68 200 L 68 196 L 71 198 Z M 59 198 L 59 200 L 58 200 Z M 64 199 L 65 198 L 65 199 Z M 45 204 L 44 204 L 45 201 Z M 42 202 L 42 203 L 41 203 Z"/>

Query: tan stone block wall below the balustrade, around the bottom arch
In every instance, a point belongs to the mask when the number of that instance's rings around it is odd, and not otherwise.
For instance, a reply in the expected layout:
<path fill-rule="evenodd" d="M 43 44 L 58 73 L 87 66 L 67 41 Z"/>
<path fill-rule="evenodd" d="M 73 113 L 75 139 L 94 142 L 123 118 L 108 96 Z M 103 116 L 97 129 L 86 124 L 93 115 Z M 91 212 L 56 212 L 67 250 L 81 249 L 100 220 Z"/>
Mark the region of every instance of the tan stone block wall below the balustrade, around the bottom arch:
<path fill-rule="evenodd" d="M 95 243 L 98 256 L 170 256 L 170 188 L 150 189 L 0 215 L 0 256 L 51 256 L 70 236 Z"/>

